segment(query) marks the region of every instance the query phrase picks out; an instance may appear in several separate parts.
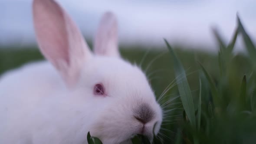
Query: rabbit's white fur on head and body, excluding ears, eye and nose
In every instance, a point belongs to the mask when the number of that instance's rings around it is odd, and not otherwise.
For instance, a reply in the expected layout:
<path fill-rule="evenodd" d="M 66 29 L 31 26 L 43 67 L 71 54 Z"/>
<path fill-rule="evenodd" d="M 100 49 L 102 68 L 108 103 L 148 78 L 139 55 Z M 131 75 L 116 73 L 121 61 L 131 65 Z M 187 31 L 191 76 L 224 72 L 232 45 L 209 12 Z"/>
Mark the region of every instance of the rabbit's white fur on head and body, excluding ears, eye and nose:
<path fill-rule="evenodd" d="M 142 104 L 155 113 L 144 134 L 152 138 L 157 121 L 158 133 L 162 111 L 141 69 L 119 56 L 91 55 L 79 63 L 72 88 L 50 62 L 0 77 L 0 144 L 86 144 L 88 131 L 103 144 L 128 144 L 143 127 L 133 113 Z M 97 83 L 105 86 L 106 96 L 94 95 Z"/>

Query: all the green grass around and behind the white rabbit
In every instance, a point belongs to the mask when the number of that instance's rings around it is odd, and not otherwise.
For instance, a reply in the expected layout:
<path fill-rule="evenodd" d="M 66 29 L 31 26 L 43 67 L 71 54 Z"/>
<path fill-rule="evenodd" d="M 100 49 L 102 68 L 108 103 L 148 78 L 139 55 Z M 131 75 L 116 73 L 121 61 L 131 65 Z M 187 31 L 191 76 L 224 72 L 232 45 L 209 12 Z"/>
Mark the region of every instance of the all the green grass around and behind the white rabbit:
<path fill-rule="evenodd" d="M 256 48 L 239 19 L 230 43 L 225 43 L 218 31 L 213 34 L 219 45 L 217 56 L 172 49 L 167 41 L 165 54 L 136 46 L 121 49 L 125 59 L 147 69 L 157 99 L 161 96 L 158 102 L 164 119 L 158 137 L 163 144 L 256 141 Z M 233 52 L 237 36 L 243 39 L 247 55 Z M 36 59 L 43 59 L 37 49 L 0 49 L 0 74 Z M 142 139 L 138 135 L 132 142 L 147 144 Z M 154 144 L 161 143 L 156 140 Z M 100 144 L 95 138 L 92 142 Z"/>

